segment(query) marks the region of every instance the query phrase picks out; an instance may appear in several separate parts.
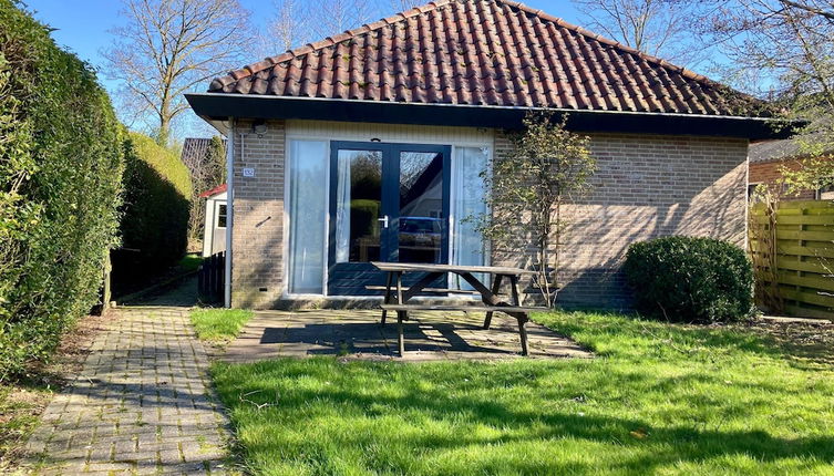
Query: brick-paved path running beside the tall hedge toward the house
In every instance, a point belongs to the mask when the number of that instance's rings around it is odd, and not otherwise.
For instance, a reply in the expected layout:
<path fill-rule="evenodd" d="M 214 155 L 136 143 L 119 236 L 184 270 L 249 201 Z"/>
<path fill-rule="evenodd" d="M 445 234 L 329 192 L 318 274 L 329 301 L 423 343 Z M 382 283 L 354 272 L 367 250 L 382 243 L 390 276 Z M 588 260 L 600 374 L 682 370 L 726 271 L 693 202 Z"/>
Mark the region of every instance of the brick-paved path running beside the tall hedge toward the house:
<path fill-rule="evenodd" d="M 224 473 L 225 418 L 184 308 L 120 309 L 28 444 L 38 474 Z"/>

